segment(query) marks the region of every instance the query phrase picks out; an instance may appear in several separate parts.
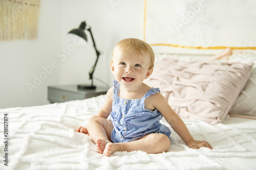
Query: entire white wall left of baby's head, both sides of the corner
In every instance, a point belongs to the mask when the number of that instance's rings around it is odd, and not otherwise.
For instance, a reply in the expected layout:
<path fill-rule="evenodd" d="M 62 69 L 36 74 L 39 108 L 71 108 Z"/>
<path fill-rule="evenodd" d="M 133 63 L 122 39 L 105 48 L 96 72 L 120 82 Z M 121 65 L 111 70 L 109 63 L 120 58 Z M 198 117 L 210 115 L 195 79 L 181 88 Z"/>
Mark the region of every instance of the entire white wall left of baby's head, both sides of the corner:
<path fill-rule="evenodd" d="M 48 104 L 49 85 L 90 83 L 88 72 L 96 59 L 90 34 L 88 45 L 75 48 L 70 48 L 72 41 L 67 37 L 84 20 L 102 51 L 94 75 L 111 85 L 112 50 L 123 38 L 143 38 L 143 12 L 144 0 L 41 0 L 38 38 L 0 41 L 0 108 Z M 60 55 L 65 49 L 64 59 Z M 55 68 L 51 71 L 52 62 Z M 36 80 L 45 74 L 44 67 L 49 72 L 46 79 Z M 28 83 L 36 88 L 28 88 Z"/>

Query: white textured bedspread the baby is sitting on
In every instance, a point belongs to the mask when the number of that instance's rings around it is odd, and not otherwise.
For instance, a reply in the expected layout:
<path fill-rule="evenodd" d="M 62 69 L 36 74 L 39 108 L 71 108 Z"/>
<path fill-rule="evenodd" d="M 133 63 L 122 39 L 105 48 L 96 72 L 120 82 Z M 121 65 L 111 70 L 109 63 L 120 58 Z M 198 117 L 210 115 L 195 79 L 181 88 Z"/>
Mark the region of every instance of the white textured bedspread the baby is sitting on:
<path fill-rule="evenodd" d="M 3 160 L 4 114 L 8 114 L 8 166 L 0 169 L 256 169 L 256 120 L 227 117 L 209 125 L 184 119 L 190 133 L 214 148 L 186 147 L 172 130 L 166 153 L 116 152 L 102 157 L 88 135 L 75 133 L 86 126 L 105 95 L 82 101 L 0 110 Z M 166 122 L 162 121 L 165 125 Z M 167 125 L 169 127 L 169 125 Z"/>

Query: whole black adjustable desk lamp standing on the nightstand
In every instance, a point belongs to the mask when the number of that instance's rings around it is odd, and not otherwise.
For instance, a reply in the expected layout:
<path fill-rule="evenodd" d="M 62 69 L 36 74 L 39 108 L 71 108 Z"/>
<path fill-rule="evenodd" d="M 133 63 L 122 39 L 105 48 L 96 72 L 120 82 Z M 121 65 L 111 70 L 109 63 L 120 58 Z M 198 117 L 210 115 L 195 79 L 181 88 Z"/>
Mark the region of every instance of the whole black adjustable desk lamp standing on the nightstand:
<path fill-rule="evenodd" d="M 69 32 L 69 34 L 71 34 L 72 36 L 76 36 L 76 38 L 79 38 L 80 40 L 82 39 L 83 43 L 86 44 L 87 36 L 86 36 L 86 33 L 84 32 L 85 29 L 86 29 L 86 22 L 83 21 L 78 29 L 71 30 Z M 92 31 L 91 31 L 91 27 L 89 27 L 87 30 L 91 34 L 91 37 L 92 37 L 92 40 L 93 40 L 93 46 L 95 48 L 97 58 L 96 58 L 94 66 L 90 69 L 90 72 L 89 72 L 89 76 L 90 76 L 90 80 L 92 80 L 92 84 L 91 85 L 78 85 L 78 88 L 80 88 L 80 89 L 96 89 L 96 86 L 93 85 L 93 72 L 94 72 L 96 64 L 98 62 L 100 52 L 98 51 L 98 49 L 95 45 L 95 42 L 94 42 L 94 39 L 93 39 L 93 34 L 92 34 Z"/>

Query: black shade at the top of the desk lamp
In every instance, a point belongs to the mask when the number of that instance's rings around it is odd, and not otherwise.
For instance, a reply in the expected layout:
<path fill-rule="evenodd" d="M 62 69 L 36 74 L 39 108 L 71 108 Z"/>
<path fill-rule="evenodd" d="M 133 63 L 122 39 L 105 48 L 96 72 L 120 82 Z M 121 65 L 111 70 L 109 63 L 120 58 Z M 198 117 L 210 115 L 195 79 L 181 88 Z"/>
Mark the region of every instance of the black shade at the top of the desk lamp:
<path fill-rule="evenodd" d="M 83 21 L 78 29 L 71 30 L 68 33 L 68 35 L 71 39 L 75 39 L 75 38 L 79 39 L 81 44 L 85 45 L 87 43 L 87 36 L 86 36 L 86 33 L 84 32 L 85 29 L 86 29 L 86 22 Z"/>

